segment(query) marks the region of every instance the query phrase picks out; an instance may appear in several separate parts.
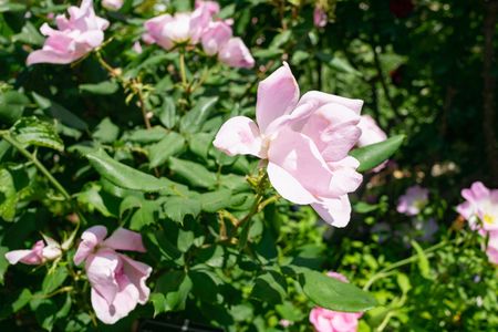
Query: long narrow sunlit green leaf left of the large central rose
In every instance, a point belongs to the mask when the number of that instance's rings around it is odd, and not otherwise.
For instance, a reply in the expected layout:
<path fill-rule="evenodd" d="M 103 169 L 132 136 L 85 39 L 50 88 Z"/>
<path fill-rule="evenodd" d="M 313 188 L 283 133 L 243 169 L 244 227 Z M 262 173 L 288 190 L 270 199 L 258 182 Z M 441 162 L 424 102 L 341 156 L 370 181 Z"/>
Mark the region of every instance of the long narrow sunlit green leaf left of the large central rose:
<path fill-rule="evenodd" d="M 153 193 L 167 190 L 172 186 L 166 178 L 156 178 L 114 160 L 103 149 L 86 154 L 86 158 L 102 177 L 125 189 Z"/>

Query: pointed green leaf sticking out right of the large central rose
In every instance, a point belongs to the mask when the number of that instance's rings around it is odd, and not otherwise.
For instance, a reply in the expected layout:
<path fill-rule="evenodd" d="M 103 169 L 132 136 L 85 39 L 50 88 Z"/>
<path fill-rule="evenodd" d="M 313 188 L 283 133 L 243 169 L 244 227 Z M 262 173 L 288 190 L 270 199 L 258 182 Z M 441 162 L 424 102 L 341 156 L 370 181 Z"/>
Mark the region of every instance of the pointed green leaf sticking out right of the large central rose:
<path fill-rule="evenodd" d="M 350 155 L 360 162 L 357 172 L 365 172 L 388 159 L 402 145 L 405 135 L 393 136 L 384 142 L 353 149 Z"/>

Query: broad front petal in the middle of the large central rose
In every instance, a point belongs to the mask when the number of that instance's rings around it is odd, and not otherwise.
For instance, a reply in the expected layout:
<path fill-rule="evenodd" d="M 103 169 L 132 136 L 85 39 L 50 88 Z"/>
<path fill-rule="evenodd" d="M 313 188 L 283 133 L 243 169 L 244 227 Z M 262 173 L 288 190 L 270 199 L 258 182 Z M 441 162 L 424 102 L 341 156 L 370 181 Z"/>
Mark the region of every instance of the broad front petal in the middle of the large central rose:
<path fill-rule="evenodd" d="M 290 129 L 279 132 L 270 143 L 268 159 L 271 164 L 283 168 L 311 195 L 333 197 L 333 193 L 330 191 L 332 172 L 308 136 Z M 270 180 L 272 180 L 271 177 Z M 274 186 L 273 183 L 272 185 Z M 276 189 L 282 197 L 291 196 L 292 188 L 289 185 L 276 187 Z M 282 189 L 286 191 L 281 191 Z"/>

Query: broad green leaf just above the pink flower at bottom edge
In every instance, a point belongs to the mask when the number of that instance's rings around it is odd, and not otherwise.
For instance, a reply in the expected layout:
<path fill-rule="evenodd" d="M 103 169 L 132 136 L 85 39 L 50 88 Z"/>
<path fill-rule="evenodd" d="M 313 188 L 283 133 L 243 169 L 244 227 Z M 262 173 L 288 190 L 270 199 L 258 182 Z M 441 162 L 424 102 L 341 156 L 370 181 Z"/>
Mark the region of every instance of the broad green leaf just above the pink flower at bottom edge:
<path fill-rule="evenodd" d="M 377 304 L 372 294 L 354 284 L 342 282 L 317 271 L 300 268 L 300 283 L 304 294 L 315 304 L 336 311 L 359 312 Z"/>

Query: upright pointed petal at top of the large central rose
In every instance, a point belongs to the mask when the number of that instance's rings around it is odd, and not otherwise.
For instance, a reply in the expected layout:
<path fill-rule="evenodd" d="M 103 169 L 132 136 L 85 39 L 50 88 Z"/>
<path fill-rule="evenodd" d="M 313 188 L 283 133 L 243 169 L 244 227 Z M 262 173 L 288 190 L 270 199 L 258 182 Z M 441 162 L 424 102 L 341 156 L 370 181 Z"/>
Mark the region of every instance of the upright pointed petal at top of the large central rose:
<path fill-rule="evenodd" d="M 258 86 L 256 118 L 261 133 L 276 118 L 289 114 L 299 100 L 299 86 L 287 63 L 274 71 Z"/>

